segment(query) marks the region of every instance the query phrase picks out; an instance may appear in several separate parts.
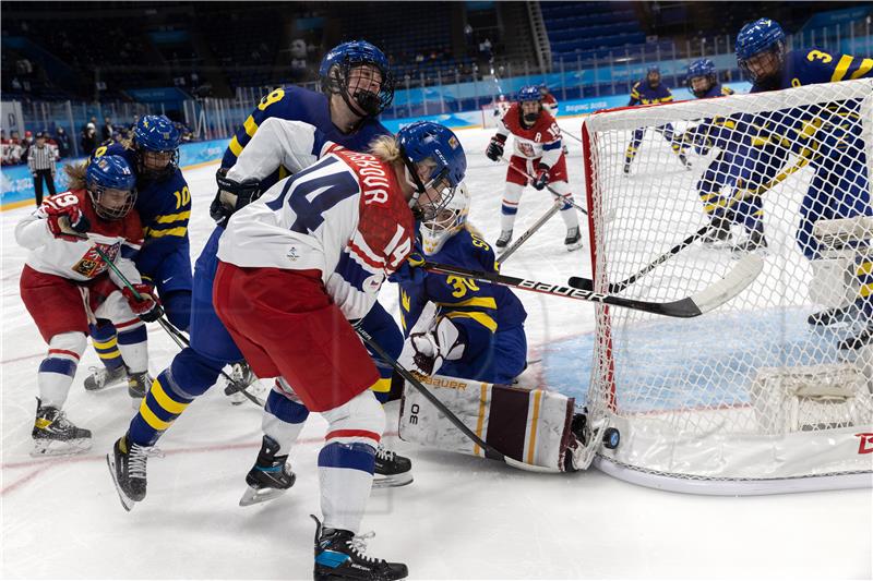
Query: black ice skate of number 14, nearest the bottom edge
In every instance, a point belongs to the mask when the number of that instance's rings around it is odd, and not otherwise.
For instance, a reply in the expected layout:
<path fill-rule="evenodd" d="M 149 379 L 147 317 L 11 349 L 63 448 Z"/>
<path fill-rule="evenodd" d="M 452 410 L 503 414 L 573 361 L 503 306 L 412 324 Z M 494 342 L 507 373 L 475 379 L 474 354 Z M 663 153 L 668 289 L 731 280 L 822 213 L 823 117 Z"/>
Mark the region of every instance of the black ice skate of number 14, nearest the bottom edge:
<path fill-rule="evenodd" d="M 373 533 L 356 536 L 351 531 L 324 529 L 314 515 L 310 516 L 315 521 L 315 581 L 393 581 L 406 579 L 409 574 L 403 562 L 387 562 L 367 556 L 367 540 Z"/>

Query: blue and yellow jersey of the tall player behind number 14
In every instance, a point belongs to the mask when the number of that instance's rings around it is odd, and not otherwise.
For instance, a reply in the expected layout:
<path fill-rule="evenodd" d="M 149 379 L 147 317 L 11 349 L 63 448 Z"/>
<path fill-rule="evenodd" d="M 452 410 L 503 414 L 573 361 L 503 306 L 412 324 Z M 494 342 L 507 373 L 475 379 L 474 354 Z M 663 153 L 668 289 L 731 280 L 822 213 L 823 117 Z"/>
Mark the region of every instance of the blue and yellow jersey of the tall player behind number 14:
<path fill-rule="evenodd" d="M 331 141 L 354 152 L 366 152 L 373 138 L 380 135 L 391 135 L 391 132 L 376 119 L 364 119 L 357 131 L 343 133 L 331 120 L 331 110 L 324 94 L 295 86 L 280 87 L 261 99 L 252 114 L 237 130 L 222 158 L 223 168 L 234 167 L 237 157 L 258 131 L 258 126 L 271 117 L 302 121 L 313 125 L 319 130 L 321 137 L 315 140 L 316 147 L 319 143 Z M 314 152 L 314 154 L 318 156 L 319 152 Z M 286 168 L 279 168 L 273 174 L 261 180 L 261 183 L 265 190 L 289 173 Z"/>

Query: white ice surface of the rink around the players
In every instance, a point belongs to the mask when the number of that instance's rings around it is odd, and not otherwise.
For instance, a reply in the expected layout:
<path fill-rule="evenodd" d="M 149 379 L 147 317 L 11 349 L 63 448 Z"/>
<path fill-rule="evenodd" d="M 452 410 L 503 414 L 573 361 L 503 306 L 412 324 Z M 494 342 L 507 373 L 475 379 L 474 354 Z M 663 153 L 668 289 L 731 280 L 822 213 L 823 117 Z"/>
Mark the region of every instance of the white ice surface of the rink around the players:
<path fill-rule="evenodd" d="M 564 119 L 561 125 L 579 134 L 578 120 Z M 485 157 L 490 135 L 485 130 L 458 132 L 468 155 L 470 221 L 493 242 L 506 168 Z M 579 192 L 581 147 L 575 140 L 565 141 L 571 181 Z M 662 142 L 657 146 L 667 147 Z M 184 170 L 194 201 L 193 257 L 213 228 L 207 206 L 216 168 L 217 162 Z M 577 201 L 585 204 L 582 196 Z M 548 194 L 528 189 L 516 237 L 550 204 Z M 46 346 L 17 290 L 25 252 L 15 244 L 13 228 L 27 211 L 0 215 L 0 578 L 311 578 L 314 526 L 309 515 L 319 513 L 315 459 L 325 427 L 318 415 L 310 417 L 291 455 L 294 488 L 272 503 L 240 508 L 243 479 L 260 447 L 261 410 L 248 402 L 231 406 L 220 389 L 208 391 L 160 440 L 165 457 L 148 462 L 148 495 L 125 512 L 105 455 L 133 411 L 125 388 L 85 392 L 88 367 L 99 364 L 88 349 L 65 409 L 74 423 L 93 431 L 92 450 L 70 458 L 29 456 L 36 367 Z M 587 223 L 582 223 L 587 233 Z M 563 222 L 552 218 L 505 262 L 503 271 L 562 283 L 569 276 L 590 276 L 587 243 L 567 253 L 563 237 Z M 396 292 L 385 285 L 380 296 L 395 312 Z M 593 308 L 567 299 L 517 294 L 528 312 L 529 360 L 536 362 L 525 383 L 583 397 Z M 150 371 L 156 374 L 177 347 L 157 325 L 148 330 Z M 396 403 L 387 411 L 386 441 L 411 457 L 415 482 L 374 491 L 362 532 L 376 532 L 369 543 L 371 555 L 405 561 L 411 579 L 873 578 L 870 488 L 707 497 L 643 488 L 594 469 L 527 473 L 400 441 Z"/>

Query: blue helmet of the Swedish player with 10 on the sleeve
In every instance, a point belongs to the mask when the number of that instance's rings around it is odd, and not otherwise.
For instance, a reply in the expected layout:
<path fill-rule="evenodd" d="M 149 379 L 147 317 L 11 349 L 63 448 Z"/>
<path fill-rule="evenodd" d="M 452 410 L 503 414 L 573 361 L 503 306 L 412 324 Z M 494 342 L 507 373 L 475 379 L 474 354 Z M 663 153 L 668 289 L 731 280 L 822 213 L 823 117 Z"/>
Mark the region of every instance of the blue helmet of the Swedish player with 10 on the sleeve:
<path fill-rule="evenodd" d="M 165 116 L 141 117 L 133 128 L 136 172 L 150 180 L 163 180 L 176 173 L 181 140 L 179 130 Z"/>

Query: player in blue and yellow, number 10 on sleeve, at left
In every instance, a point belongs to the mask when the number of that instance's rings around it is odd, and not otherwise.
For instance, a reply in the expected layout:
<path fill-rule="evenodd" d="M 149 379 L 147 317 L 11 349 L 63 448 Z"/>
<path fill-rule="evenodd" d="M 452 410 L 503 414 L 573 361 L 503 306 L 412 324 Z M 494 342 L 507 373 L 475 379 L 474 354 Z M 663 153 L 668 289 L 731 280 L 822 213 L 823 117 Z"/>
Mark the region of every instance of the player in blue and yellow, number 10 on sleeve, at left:
<path fill-rule="evenodd" d="M 179 169 L 179 130 L 164 116 L 143 116 L 129 141 L 100 146 L 91 161 L 123 157 L 136 178 L 135 209 L 145 240 L 134 262 L 143 280 L 155 287 L 167 319 L 187 330 L 191 319 L 191 245 L 188 220 L 191 193 Z M 119 335 L 109 320 L 98 319 L 91 341 L 100 362 L 85 378 L 85 389 L 98 390 L 123 382 L 128 368 L 118 348 Z M 148 382 L 151 384 L 151 382 Z"/>

